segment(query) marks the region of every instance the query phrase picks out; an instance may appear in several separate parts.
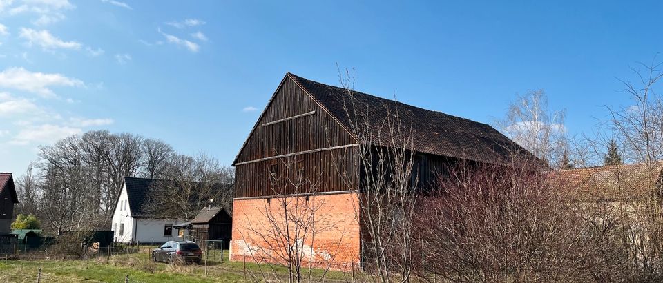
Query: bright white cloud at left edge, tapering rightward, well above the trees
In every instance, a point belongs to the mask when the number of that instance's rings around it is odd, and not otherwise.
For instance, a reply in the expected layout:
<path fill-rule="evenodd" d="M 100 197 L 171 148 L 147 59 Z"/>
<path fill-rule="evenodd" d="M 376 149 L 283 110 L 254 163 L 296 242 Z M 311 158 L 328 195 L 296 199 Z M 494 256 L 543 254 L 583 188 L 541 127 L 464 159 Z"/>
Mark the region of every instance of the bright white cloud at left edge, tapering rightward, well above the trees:
<path fill-rule="evenodd" d="M 30 72 L 22 67 L 6 68 L 0 72 L 0 88 L 13 88 L 37 93 L 42 97 L 56 97 L 51 86 L 85 86 L 83 81 L 61 74 Z"/>

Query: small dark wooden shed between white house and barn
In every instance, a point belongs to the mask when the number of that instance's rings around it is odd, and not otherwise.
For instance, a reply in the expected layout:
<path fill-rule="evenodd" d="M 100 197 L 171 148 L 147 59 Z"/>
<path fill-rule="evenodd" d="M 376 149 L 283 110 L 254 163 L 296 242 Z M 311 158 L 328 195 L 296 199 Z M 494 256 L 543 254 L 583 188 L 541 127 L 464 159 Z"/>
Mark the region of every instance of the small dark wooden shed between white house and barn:
<path fill-rule="evenodd" d="M 229 240 L 233 219 L 221 207 L 202 208 L 191 220 L 191 236 L 195 240 Z"/>

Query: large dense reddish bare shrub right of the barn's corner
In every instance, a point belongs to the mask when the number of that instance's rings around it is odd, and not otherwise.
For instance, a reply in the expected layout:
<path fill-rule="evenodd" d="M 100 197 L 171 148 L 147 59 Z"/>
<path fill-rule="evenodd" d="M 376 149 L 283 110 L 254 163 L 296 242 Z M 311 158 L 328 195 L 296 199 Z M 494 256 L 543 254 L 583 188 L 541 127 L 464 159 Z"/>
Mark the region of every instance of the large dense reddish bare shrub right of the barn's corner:
<path fill-rule="evenodd" d="M 566 204 L 549 175 L 460 166 L 419 203 L 419 275 L 452 282 L 592 279 L 602 239 Z M 598 240 L 599 242 L 593 242 Z"/>

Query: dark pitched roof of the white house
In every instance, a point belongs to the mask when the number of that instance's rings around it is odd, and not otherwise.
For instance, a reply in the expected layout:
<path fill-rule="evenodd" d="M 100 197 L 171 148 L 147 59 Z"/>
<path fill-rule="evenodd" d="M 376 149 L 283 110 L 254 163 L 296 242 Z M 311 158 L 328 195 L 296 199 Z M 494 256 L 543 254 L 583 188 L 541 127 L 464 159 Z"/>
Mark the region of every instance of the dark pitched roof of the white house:
<path fill-rule="evenodd" d="M 126 194 L 128 197 L 131 217 L 156 218 L 155 215 L 144 209 L 144 204 L 148 201 L 150 188 L 152 186 L 172 186 L 177 183 L 173 180 L 124 177 L 124 184 L 126 185 Z M 218 185 L 220 189 L 221 186 L 232 186 L 231 184 L 215 185 Z M 117 206 L 117 201 L 115 202 L 115 206 Z"/>

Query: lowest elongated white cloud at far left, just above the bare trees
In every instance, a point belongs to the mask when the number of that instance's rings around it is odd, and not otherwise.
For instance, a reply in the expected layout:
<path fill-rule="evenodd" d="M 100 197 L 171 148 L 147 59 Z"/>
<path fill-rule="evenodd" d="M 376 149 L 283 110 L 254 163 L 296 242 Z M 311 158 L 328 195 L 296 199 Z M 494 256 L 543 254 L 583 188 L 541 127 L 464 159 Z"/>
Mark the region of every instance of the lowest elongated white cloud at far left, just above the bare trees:
<path fill-rule="evenodd" d="M 70 126 L 44 124 L 41 126 L 28 126 L 10 140 L 10 144 L 26 145 L 31 143 L 50 144 L 58 139 L 64 139 L 70 135 L 81 135 L 83 130 Z"/>

